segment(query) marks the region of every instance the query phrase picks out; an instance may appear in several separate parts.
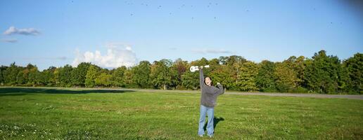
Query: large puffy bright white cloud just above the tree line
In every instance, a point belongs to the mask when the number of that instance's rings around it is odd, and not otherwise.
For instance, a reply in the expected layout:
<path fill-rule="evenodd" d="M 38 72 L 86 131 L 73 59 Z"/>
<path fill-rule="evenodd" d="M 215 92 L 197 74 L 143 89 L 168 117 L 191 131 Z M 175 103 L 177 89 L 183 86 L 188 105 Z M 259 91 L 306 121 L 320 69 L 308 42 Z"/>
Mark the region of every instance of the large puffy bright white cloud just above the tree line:
<path fill-rule="evenodd" d="M 76 50 L 76 57 L 72 62 L 72 66 L 77 66 L 81 62 L 91 62 L 97 66 L 106 68 L 117 68 L 120 66 L 134 66 L 136 64 L 136 54 L 129 45 L 108 44 L 106 55 L 101 52 L 84 52 L 83 54 Z"/>

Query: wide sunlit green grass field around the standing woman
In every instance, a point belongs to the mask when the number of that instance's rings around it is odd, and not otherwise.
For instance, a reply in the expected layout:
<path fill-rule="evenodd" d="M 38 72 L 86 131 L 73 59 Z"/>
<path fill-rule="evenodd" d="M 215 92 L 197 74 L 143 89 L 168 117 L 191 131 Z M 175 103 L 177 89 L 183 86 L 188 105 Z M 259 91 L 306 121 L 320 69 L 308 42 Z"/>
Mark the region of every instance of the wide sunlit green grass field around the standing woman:
<path fill-rule="evenodd" d="M 0 139 L 200 139 L 199 100 L 196 93 L 1 87 Z M 212 139 L 363 139 L 363 100 L 224 94 Z"/>

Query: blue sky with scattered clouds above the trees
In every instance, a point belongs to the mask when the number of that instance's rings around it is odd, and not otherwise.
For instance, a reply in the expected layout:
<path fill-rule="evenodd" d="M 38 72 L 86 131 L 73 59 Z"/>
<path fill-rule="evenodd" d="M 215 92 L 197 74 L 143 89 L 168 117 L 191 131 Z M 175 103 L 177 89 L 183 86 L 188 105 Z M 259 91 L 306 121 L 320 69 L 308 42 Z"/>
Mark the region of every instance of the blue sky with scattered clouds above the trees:
<path fill-rule="evenodd" d="M 0 65 L 229 55 L 276 62 L 319 50 L 346 59 L 363 52 L 357 9 L 342 0 L 0 1 Z"/>

